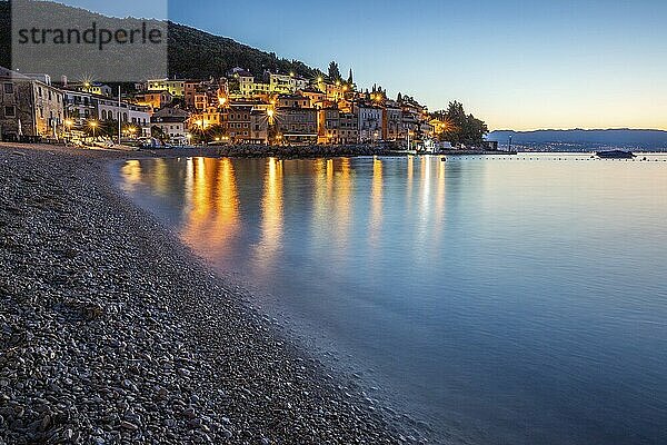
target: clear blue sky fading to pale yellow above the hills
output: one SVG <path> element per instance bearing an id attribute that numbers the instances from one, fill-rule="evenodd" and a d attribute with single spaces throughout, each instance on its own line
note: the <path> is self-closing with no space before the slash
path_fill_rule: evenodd
<path id="1" fill-rule="evenodd" d="M 115 16 L 165 0 L 67 0 Z M 170 20 L 326 71 L 362 88 L 459 100 L 490 129 L 667 130 L 665 0 L 169 0 Z"/>

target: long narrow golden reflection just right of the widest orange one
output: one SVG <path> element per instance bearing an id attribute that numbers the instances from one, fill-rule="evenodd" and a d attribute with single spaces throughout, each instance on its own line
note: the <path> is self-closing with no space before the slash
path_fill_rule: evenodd
<path id="1" fill-rule="evenodd" d="M 281 160 L 267 159 L 261 200 L 260 240 L 255 249 L 255 259 L 263 271 L 270 270 L 282 246 L 285 224 L 282 167 Z"/>

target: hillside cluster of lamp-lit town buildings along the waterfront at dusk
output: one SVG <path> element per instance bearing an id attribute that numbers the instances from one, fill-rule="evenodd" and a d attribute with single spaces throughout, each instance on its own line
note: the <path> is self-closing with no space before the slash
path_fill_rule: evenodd
<path id="1" fill-rule="evenodd" d="M 0 68 L 0 95 L 2 140 L 86 137 L 112 121 L 123 138 L 175 146 L 426 141 L 445 129 L 411 98 L 391 100 L 376 87 L 358 91 L 351 72 L 342 81 L 235 68 L 220 79 L 148 80 L 121 95 Z"/>

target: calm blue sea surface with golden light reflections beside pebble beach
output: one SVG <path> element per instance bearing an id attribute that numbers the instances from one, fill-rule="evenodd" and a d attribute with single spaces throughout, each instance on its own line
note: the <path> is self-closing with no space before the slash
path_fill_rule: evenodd
<path id="1" fill-rule="evenodd" d="M 149 159 L 118 180 L 438 442 L 667 444 L 666 160 Z"/>

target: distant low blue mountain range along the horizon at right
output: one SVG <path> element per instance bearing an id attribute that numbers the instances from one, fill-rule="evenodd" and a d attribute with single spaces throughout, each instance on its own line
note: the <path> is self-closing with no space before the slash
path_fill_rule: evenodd
<path id="1" fill-rule="evenodd" d="M 606 148 L 636 150 L 667 150 L 667 131 L 631 130 L 627 128 L 608 130 L 536 130 L 536 131 L 491 131 L 487 139 L 507 146 L 511 136 L 516 148 L 530 150 L 587 151 Z"/>

